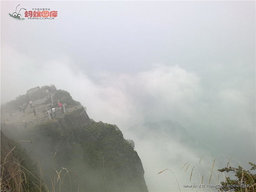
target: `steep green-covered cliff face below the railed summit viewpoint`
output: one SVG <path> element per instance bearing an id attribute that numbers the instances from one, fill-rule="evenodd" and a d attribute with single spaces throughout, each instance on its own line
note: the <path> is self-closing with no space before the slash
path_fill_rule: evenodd
<path id="1" fill-rule="evenodd" d="M 20 144 L 48 186 L 62 179 L 62 191 L 147 191 L 139 155 L 119 128 L 89 119 L 81 106 L 69 109 L 33 126 L 1 128 L 16 141 L 30 141 Z"/>

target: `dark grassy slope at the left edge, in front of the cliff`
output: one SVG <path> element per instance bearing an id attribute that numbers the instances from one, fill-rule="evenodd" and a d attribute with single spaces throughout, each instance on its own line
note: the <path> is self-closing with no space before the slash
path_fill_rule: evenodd
<path id="1" fill-rule="evenodd" d="M 1 124 L 1 127 L 5 125 Z M 10 128 L 7 126 L 7 128 Z M 1 131 L 1 189 L 11 191 L 35 191 L 38 186 L 37 165 L 18 143 L 7 138 Z"/>

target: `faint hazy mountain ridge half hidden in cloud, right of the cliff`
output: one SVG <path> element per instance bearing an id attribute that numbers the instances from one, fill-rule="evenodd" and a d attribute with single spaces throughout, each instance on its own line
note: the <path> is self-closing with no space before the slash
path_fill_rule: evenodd
<path id="1" fill-rule="evenodd" d="M 190 150 L 198 157 L 210 155 L 207 146 L 199 138 L 191 136 L 179 122 L 161 120 L 158 122 L 146 122 L 138 127 L 141 128 L 131 127 L 128 132 L 132 133 L 133 130 L 136 130 L 134 138 L 136 138 L 137 143 L 138 141 L 150 142 L 154 147 L 161 148 L 162 152 L 168 152 L 170 148 L 179 146 L 181 150 Z M 170 159 L 173 159 L 173 155 L 170 155 Z M 184 162 L 186 161 L 188 159 L 184 159 Z"/>

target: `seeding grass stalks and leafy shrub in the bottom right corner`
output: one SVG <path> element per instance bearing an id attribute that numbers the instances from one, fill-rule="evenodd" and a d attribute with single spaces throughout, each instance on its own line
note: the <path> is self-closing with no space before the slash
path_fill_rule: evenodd
<path id="1" fill-rule="evenodd" d="M 216 161 L 219 156 L 228 157 L 228 162 L 225 168 L 216 170 Z M 242 166 L 237 159 L 234 159 L 233 157 L 230 157 L 228 155 L 218 155 L 214 158 L 213 161 L 210 161 L 210 159 L 207 157 L 210 162 L 210 164 L 206 164 L 207 166 L 202 163 L 202 159 L 203 157 L 200 158 L 198 164 L 195 164 L 193 166 L 191 166 L 191 163 L 189 161 L 182 166 L 182 169 L 184 169 L 185 172 L 188 169 L 191 170 L 189 182 L 191 183 L 191 180 L 196 180 L 195 183 L 191 183 L 192 190 L 193 188 L 195 188 L 196 191 L 200 190 L 202 192 L 256 192 L 256 174 L 251 173 L 251 171 L 256 170 L 256 164 L 249 162 L 249 164 L 251 165 L 251 169 L 249 171 L 245 170 L 244 166 Z M 238 164 L 238 168 L 235 168 L 232 162 Z M 195 169 L 198 172 L 198 176 L 196 177 L 193 174 Z M 175 176 L 174 172 L 171 169 L 164 169 L 158 174 L 161 174 L 167 170 L 171 171 L 172 174 Z M 220 176 L 223 176 L 223 181 L 220 181 Z M 175 179 L 179 191 L 181 191 L 176 176 Z"/>

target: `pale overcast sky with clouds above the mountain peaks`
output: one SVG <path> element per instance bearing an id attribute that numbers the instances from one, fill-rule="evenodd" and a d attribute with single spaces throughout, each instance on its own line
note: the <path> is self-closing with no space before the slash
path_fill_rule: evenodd
<path id="1" fill-rule="evenodd" d="M 14 19 L 18 4 L 58 17 Z M 1 103 L 49 84 L 137 141 L 146 174 L 152 143 L 127 130 L 147 121 L 178 121 L 213 157 L 255 163 L 255 2 L 1 1 Z"/>

